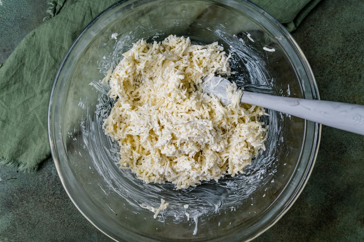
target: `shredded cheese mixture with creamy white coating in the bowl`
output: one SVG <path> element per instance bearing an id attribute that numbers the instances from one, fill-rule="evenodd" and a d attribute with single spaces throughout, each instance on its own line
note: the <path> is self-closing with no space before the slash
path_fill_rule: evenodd
<path id="1" fill-rule="evenodd" d="M 230 55 L 217 42 L 170 35 L 139 40 L 123 56 L 103 80 L 116 100 L 103 128 L 120 146 L 120 168 L 185 189 L 242 173 L 265 149 L 263 108 L 240 104 L 240 91 L 228 106 L 202 92 L 203 77 L 231 74 Z"/>

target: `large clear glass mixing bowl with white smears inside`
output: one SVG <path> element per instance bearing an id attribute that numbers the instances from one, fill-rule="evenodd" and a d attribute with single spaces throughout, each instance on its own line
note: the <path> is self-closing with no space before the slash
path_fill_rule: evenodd
<path id="1" fill-rule="evenodd" d="M 159 41 L 170 34 L 196 43 L 218 41 L 232 53 L 237 74 L 230 79 L 245 90 L 318 99 L 297 43 L 248 1 L 121 1 L 84 29 L 57 72 L 48 127 L 60 179 L 79 211 L 118 241 L 253 239 L 301 193 L 316 158 L 320 125 L 267 110 L 267 148 L 244 174 L 185 190 L 143 184 L 115 164 L 118 147 L 102 129 L 113 101 L 100 80 L 133 42 Z M 156 219 L 140 206 L 158 207 L 161 198 L 170 205 Z"/>

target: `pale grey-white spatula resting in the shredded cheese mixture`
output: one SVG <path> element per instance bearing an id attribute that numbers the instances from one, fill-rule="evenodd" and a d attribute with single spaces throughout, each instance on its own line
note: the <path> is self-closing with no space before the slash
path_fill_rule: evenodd
<path id="1" fill-rule="evenodd" d="M 229 80 L 221 77 L 203 78 L 203 92 L 214 94 L 223 105 L 231 103 L 226 88 Z M 240 102 L 284 112 L 330 127 L 364 135 L 364 106 L 322 100 L 289 98 L 242 91 Z"/>

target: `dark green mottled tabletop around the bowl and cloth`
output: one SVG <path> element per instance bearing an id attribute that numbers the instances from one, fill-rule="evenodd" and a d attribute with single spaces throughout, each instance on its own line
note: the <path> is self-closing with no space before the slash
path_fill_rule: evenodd
<path id="1" fill-rule="evenodd" d="M 2 1 L 0 63 L 41 24 L 47 9 L 45 0 Z M 323 0 L 293 33 L 321 99 L 364 105 L 363 13 L 363 1 Z M 363 147 L 364 136 L 323 126 L 304 191 L 255 241 L 364 241 Z M 0 241 L 111 240 L 78 212 L 47 160 L 31 174 L 0 167 Z"/>

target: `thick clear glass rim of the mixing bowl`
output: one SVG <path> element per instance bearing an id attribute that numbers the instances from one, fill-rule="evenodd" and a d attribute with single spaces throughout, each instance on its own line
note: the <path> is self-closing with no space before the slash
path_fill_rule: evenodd
<path id="1" fill-rule="evenodd" d="M 80 208 L 80 206 L 78 205 L 78 203 L 76 203 L 75 199 L 72 197 L 72 194 L 70 192 L 70 188 L 67 186 L 66 183 L 66 177 L 63 175 L 62 173 L 62 168 L 60 167 L 60 160 L 58 159 L 59 155 L 58 155 L 58 147 L 55 146 L 55 127 L 54 127 L 54 123 L 52 123 L 52 115 L 53 114 L 53 110 L 52 110 L 52 103 L 54 102 L 54 99 L 56 98 L 56 93 L 58 90 L 58 79 L 62 73 L 62 70 L 67 62 L 67 60 L 70 57 L 70 54 L 72 53 L 72 51 L 76 48 L 77 43 L 80 41 L 80 39 L 82 38 L 82 36 L 88 31 L 88 29 L 90 29 L 99 19 L 102 19 L 103 16 L 107 15 L 110 11 L 112 11 L 112 9 L 118 7 L 119 5 L 132 5 L 135 2 L 138 2 L 138 4 L 145 4 L 148 2 L 153 2 L 154 0 L 120 0 L 112 5 L 110 5 L 109 7 L 107 7 L 103 12 L 101 12 L 98 16 L 96 16 L 93 20 L 90 21 L 90 23 L 88 23 L 86 25 L 86 27 L 79 33 L 79 35 L 76 37 L 76 39 L 73 41 L 72 45 L 70 46 L 70 48 L 68 49 L 66 55 L 64 56 L 62 62 L 60 63 L 60 66 L 56 72 L 55 78 L 54 78 L 54 83 L 52 85 L 52 90 L 51 90 L 51 95 L 50 95 L 50 101 L 49 101 L 49 105 L 48 105 L 48 116 L 47 116 L 47 125 L 48 125 L 48 139 L 49 139 L 49 143 L 50 143 L 50 148 L 51 148 L 51 155 L 52 158 L 54 160 L 55 163 L 55 167 L 58 173 L 58 176 L 61 180 L 62 186 L 64 188 L 64 190 L 66 191 L 68 197 L 71 199 L 72 203 L 76 206 L 76 208 L 80 211 L 80 213 L 92 224 L 94 225 L 99 231 L 101 231 L 103 234 L 105 234 L 107 237 L 117 241 L 115 238 L 113 238 L 111 235 L 109 235 L 107 233 L 107 231 L 104 231 L 102 228 L 100 228 L 98 225 L 95 224 L 95 222 L 92 221 L 92 219 L 90 219 L 88 217 L 88 215 Z M 305 72 L 307 74 L 307 76 L 310 77 L 309 79 L 309 86 L 310 86 L 310 91 L 312 92 L 312 99 L 320 99 L 319 94 L 318 94 L 318 88 L 317 88 L 317 83 L 316 80 L 314 78 L 312 69 L 308 63 L 308 60 L 306 59 L 304 53 L 302 52 L 301 48 L 299 47 L 298 43 L 296 42 L 296 40 L 294 40 L 293 36 L 285 29 L 285 27 L 279 23 L 273 16 L 271 16 L 269 13 L 267 13 L 264 9 L 258 7 L 257 5 L 251 3 L 248 0 L 222 0 L 222 1 L 218 1 L 219 4 L 223 4 L 226 5 L 226 1 L 232 2 L 232 4 L 236 4 L 236 5 L 248 5 L 248 7 L 250 7 L 251 9 L 253 9 L 254 11 L 257 11 L 258 13 L 260 13 L 260 15 L 262 17 L 264 17 L 265 20 L 269 21 L 269 23 L 271 25 L 275 25 L 276 27 L 278 27 L 280 29 L 280 31 L 282 31 L 286 37 L 286 39 L 288 41 L 290 41 L 290 44 L 292 45 L 292 48 L 294 48 L 294 51 L 297 54 L 297 57 L 300 59 L 300 62 L 302 63 L 302 66 L 305 68 Z M 216 0 L 211 0 L 211 3 L 213 2 L 217 2 Z M 302 84 L 302 83 L 301 83 Z M 314 163 L 316 162 L 316 158 L 317 158 L 317 154 L 318 154 L 318 149 L 320 146 L 320 138 L 321 138 L 321 124 L 319 123 L 314 123 L 308 120 L 305 120 L 305 134 L 304 137 L 306 137 L 306 131 L 307 131 L 307 126 L 314 126 L 313 128 L 313 144 L 312 144 L 312 150 L 311 150 L 311 155 L 309 158 L 309 162 L 307 163 L 307 167 L 304 175 L 301 176 L 300 179 L 300 183 L 295 187 L 294 189 L 294 193 L 290 194 L 290 199 L 289 202 L 286 203 L 286 207 L 284 207 L 277 215 L 276 217 L 274 217 L 272 219 L 272 217 L 269 217 L 269 222 L 265 223 L 265 227 L 260 227 L 260 230 L 255 233 L 252 234 L 250 238 L 248 238 L 248 241 L 252 241 L 253 239 L 257 238 L 258 236 L 260 236 L 261 234 L 263 234 L 265 231 L 267 231 L 270 227 L 272 227 L 274 224 L 276 224 L 283 216 L 284 214 L 293 206 L 294 202 L 296 202 L 297 198 L 300 196 L 300 194 L 302 193 L 304 187 L 306 186 L 309 177 L 312 173 L 313 167 L 314 167 Z M 305 142 L 303 142 L 305 143 Z M 301 151 L 302 153 L 302 151 Z M 285 191 L 285 188 L 282 190 L 282 192 Z M 281 193 L 282 193 L 281 192 Z"/>

